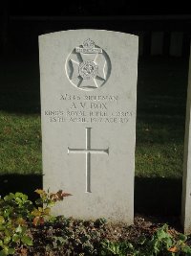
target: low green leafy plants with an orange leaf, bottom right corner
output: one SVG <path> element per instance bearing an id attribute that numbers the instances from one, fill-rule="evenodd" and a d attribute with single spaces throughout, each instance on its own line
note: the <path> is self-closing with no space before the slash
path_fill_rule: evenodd
<path id="1" fill-rule="evenodd" d="M 160 227 L 151 239 L 142 237 L 137 243 L 111 242 L 102 243 L 101 255 L 105 256 L 189 256 L 191 247 L 185 244 L 187 237 L 179 234 L 173 237 L 168 225 Z"/>

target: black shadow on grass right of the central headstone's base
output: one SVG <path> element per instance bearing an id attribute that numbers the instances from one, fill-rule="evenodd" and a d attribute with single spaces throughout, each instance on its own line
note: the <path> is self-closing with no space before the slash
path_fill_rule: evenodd
<path id="1" fill-rule="evenodd" d="M 136 177 L 135 212 L 150 216 L 179 216 L 181 187 L 178 178 Z"/>

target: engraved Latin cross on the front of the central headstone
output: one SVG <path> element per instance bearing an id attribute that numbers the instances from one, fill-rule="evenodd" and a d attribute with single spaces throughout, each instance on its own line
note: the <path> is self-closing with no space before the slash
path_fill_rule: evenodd
<path id="1" fill-rule="evenodd" d="M 91 153 L 107 153 L 106 150 L 91 149 L 91 128 L 86 128 L 86 148 L 85 149 L 70 149 L 68 153 L 85 153 L 86 154 L 86 192 L 91 193 Z"/>

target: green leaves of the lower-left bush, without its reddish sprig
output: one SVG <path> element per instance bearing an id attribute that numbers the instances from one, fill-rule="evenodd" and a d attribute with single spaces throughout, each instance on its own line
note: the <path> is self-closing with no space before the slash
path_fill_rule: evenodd
<path id="1" fill-rule="evenodd" d="M 19 244 L 32 245 L 27 228 L 32 201 L 22 193 L 15 193 L 0 199 L 0 255 L 14 254 Z"/>

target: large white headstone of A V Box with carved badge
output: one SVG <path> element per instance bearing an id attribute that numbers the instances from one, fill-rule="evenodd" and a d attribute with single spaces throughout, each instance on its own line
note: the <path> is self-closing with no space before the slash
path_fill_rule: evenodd
<path id="1" fill-rule="evenodd" d="M 138 36 L 39 36 L 44 189 L 54 214 L 133 222 Z"/>

